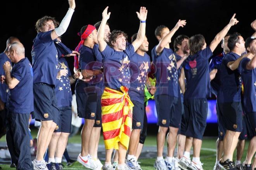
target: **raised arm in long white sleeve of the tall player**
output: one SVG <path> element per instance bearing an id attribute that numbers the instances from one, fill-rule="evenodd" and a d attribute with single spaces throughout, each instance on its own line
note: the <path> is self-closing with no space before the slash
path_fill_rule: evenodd
<path id="1" fill-rule="evenodd" d="M 67 27 L 69 26 L 71 17 L 74 13 L 74 8 L 76 7 L 75 0 L 68 0 L 68 3 L 69 8 L 67 10 L 65 17 L 62 19 L 61 24 L 59 25 L 59 27 L 55 28 L 54 31 L 51 32 L 52 40 L 56 39 L 57 37 L 60 37 L 67 31 Z"/>

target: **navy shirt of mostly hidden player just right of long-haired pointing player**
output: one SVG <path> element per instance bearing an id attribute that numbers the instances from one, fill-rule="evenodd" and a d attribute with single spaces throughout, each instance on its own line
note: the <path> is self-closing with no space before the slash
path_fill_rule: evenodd
<path id="1" fill-rule="evenodd" d="M 221 62 L 223 57 L 225 56 L 225 53 L 222 52 L 221 54 L 214 56 L 210 63 L 209 63 L 209 71 L 212 71 L 213 69 L 217 69 L 217 73 L 214 77 L 213 80 L 211 80 L 211 92 L 217 96 L 218 95 L 218 91 L 220 89 L 220 68 L 221 68 Z"/>

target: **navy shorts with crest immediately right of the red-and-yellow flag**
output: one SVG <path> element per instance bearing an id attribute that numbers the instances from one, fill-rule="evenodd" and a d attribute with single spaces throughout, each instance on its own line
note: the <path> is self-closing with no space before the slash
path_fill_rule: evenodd
<path id="1" fill-rule="evenodd" d="M 145 112 L 144 104 L 136 100 L 131 100 L 131 102 L 134 105 L 132 110 L 132 129 L 143 129 Z"/>

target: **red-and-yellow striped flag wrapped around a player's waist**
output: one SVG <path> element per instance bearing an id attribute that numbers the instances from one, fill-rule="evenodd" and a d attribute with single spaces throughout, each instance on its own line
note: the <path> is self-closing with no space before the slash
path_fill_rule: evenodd
<path id="1" fill-rule="evenodd" d="M 122 86 L 122 92 L 106 87 L 101 97 L 102 130 L 105 147 L 118 149 L 121 143 L 127 150 L 131 136 L 133 103 L 128 88 Z"/>

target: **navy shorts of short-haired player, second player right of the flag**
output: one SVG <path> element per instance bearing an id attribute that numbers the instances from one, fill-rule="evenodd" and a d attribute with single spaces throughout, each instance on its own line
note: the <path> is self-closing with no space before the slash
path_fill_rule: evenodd
<path id="1" fill-rule="evenodd" d="M 179 128 L 181 113 L 175 113 L 174 105 L 178 98 L 170 95 L 155 96 L 157 125 L 162 127 Z"/>

